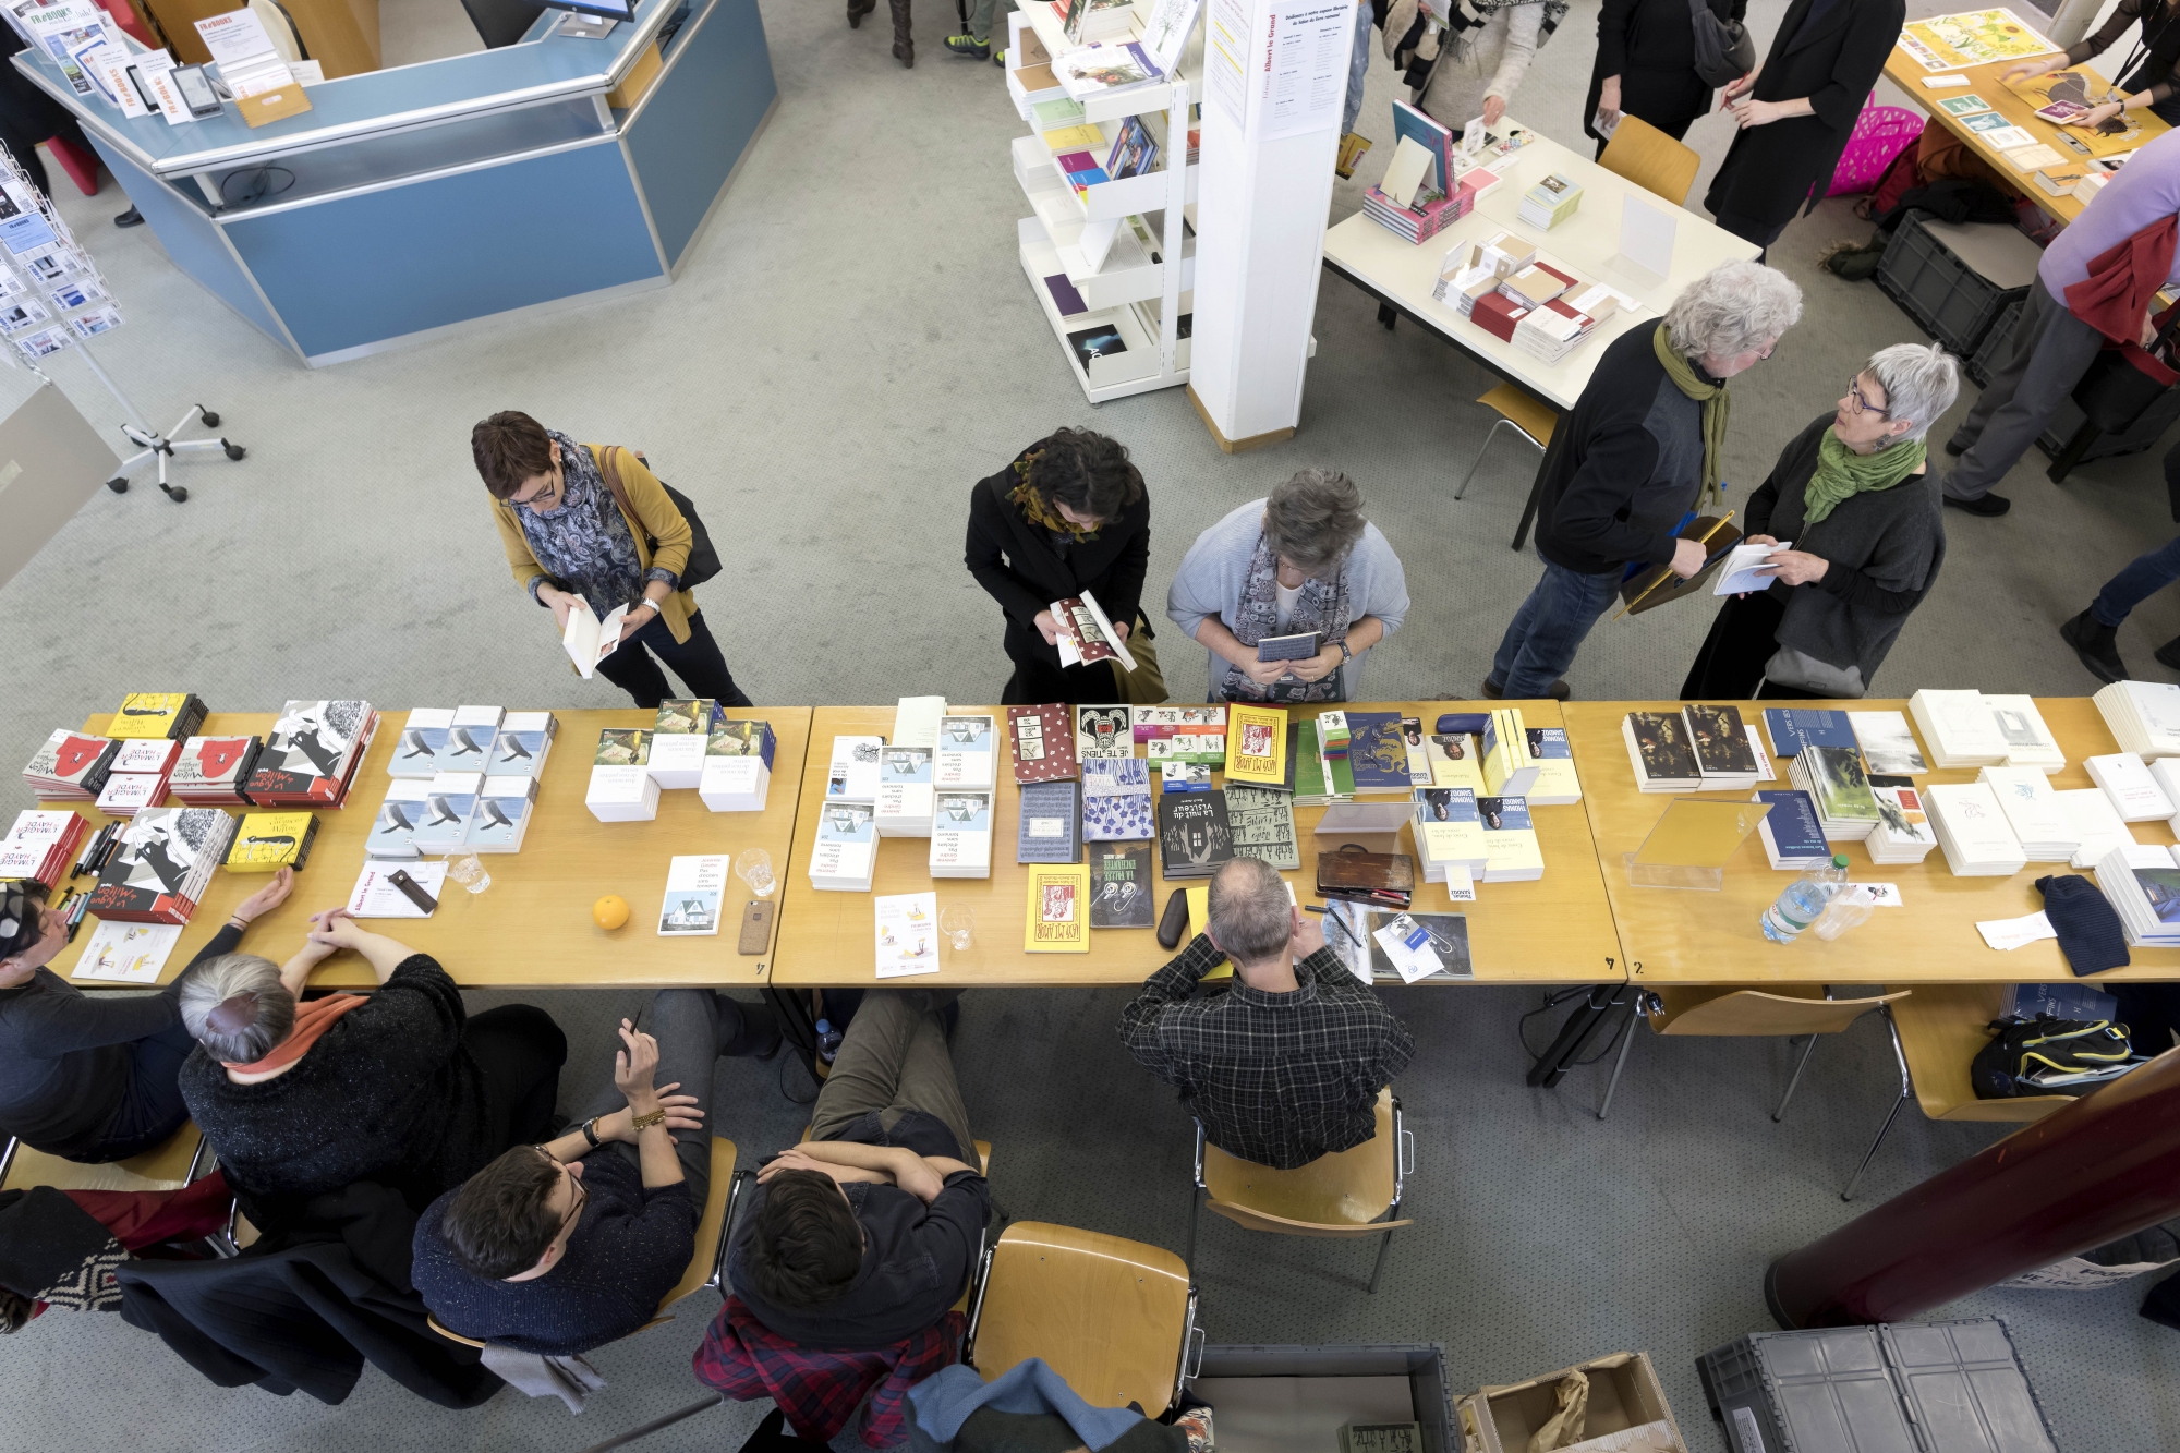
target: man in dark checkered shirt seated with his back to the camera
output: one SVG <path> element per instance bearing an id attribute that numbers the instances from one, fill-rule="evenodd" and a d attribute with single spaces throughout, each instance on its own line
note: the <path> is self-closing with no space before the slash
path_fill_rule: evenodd
<path id="1" fill-rule="evenodd" d="M 1234 960 L 1234 986 L 1195 997 L 1223 960 Z M 1256 857 L 1212 875 L 1203 932 L 1121 1010 L 1121 1043 L 1182 1091 L 1203 1139 L 1273 1169 L 1378 1134 L 1378 1091 L 1415 1054 L 1408 1025 Z"/>

